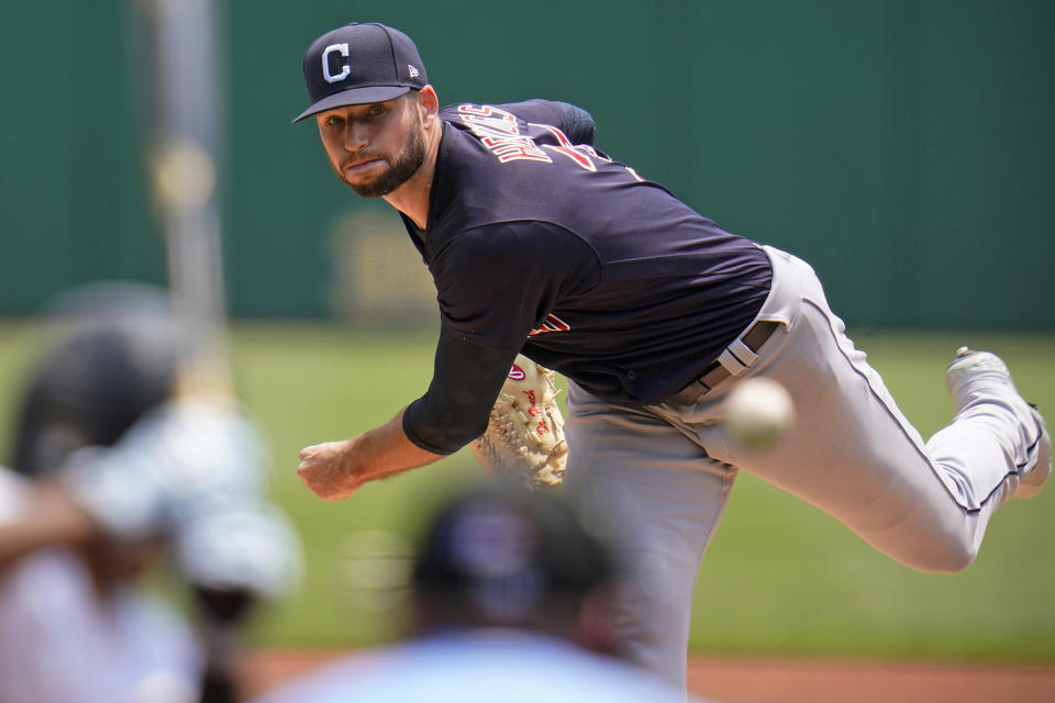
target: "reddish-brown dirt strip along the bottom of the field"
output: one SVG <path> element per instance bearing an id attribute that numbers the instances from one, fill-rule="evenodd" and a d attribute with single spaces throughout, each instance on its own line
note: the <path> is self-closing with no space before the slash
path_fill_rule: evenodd
<path id="1" fill-rule="evenodd" d="M 247 652 L 243 692 L 262 693 L 341 654 Z M 689 690 L 714 703 L 1051 703 L 1055 667 L 691 657 Z"/>

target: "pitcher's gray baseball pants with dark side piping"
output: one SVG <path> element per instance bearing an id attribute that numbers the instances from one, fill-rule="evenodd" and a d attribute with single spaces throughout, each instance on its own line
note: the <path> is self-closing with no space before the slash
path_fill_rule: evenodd
<path id="1" fill-rule="evenodd" d="M 636 594 L 621 614 L 631 657 L 682 685 L 700 559 L 738 469 L 826 511 L 906 566 L 951 572 L 974 560 L 1035 442 L 1024 403 L 999 402 L 1010 393 L 999 386 L 998 402 L 960 412 L 924 443 L 844 334 L 812 268 L 764 248 L 774 283 L 756 320 L 782 325 L 754 364 L 731 369 L 738 375 L 696 402 L 647 408 L 613 405 L 569 383 L 566 495 L 631 570 Z M 776 379 L 796 404 L 793 431 L 770 450 L 742 449 L 723 431 L 729 391 L 753 376 Z"/>

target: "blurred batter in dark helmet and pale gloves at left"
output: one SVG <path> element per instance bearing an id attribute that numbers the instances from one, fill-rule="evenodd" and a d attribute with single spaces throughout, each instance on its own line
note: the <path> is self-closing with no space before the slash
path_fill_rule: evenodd
<path id="1" fill-rule="evenodd" d="M 0 700 L 229 703 L 237 628 L 297 579 L 266 453 L 231 401 L 177 397 L 164 292 L 78 291 L 27 377 L 0 469 Z M 170 557 L 200 633 L 137 585 Z"/>

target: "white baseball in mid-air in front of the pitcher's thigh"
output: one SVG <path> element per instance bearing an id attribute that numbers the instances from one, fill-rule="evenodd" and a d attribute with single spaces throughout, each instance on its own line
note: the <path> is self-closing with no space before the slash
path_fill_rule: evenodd
<path id="1" fill-rule="evenodd" d="M 732 439 L 749 449 L 767 449 L 795 424 L 795 403 L 778 381 L 749 378 L 730 393 L 725 429 Z"/>

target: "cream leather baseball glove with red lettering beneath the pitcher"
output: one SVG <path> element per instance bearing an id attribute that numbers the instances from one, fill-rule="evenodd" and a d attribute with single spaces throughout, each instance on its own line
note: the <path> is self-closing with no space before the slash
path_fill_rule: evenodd
<path id="1" fill-rule="evenodd" d="M 560 484 L 568 443 L 554 379 L 549 369 L 517 355 L 491 409 L 487 432 L 469 444 L 489 473 L 517 479 L 531 489 Z"/>

